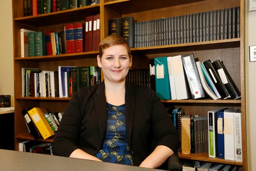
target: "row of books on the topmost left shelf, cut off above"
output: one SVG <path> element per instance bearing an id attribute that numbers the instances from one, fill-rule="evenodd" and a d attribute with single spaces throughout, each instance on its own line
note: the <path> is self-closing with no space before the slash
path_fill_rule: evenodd
<path id="1" fill-rule="evenodd" d="M 99 0 L 23 0 L 23 9 L 24 16 L 35 16 L 95 4 Z"/>

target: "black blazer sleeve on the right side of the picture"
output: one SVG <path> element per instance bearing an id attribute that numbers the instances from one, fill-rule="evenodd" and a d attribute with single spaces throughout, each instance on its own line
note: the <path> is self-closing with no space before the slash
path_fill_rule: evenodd
<path id="1" fill-rule="evenodd" d="M 152 130 L 157 145 L 165 145 L 177 152 L 180 147 L 179 136 L 172 119 L 155 92 L 151 91 L 152 99 Z"/>

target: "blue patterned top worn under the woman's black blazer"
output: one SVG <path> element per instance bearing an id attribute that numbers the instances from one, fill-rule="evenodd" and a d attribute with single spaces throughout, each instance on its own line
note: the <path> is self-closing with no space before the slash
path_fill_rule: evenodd
<path id="1" fill-rule="evenodd" d="M 125 105 L 107 103 L 108 125 L 102 149 L 95 155 L 103 162 L 133 165 L 127 142 Z"/>

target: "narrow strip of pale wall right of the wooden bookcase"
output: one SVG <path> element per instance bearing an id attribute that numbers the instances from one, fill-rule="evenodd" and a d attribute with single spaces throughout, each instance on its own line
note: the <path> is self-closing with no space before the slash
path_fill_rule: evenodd
<path id="1" fill-rule="evenodd" d="M 248 170 L 256 170 L 256 61 L 249 62 L 249 46 L 256 45 L 256 11 L 245 10 L 245 81 Z"/>

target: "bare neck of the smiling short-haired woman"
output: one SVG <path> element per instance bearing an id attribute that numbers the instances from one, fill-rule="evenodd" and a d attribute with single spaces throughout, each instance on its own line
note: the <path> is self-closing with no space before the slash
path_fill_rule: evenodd
<path id="1" fill-rule="evenodd" d="M 120 83 L 104 82 L 106 101 L 112 105 L 125 103 L 125 81 Z"/>

